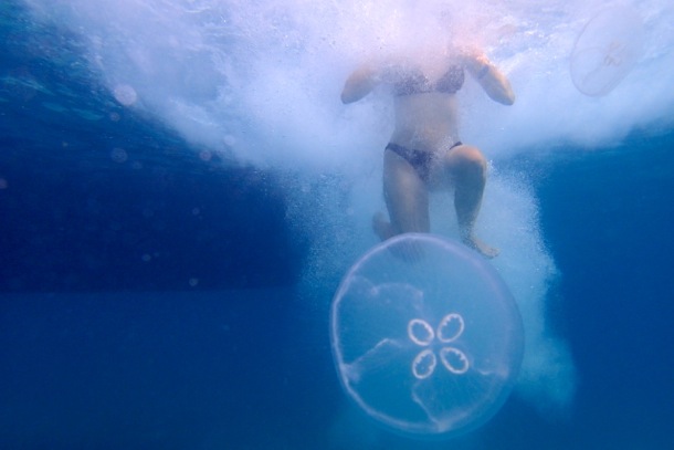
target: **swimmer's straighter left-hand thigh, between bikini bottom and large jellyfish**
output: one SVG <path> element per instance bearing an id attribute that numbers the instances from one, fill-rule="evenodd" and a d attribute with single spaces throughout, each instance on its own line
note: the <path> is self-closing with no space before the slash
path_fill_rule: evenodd
<path id="1" fill-rule="evenodd" d="M 397 233 L 430 231 L 426 185 L 410 163 L 391 150 L 383 156 L 383 195 Z"/>

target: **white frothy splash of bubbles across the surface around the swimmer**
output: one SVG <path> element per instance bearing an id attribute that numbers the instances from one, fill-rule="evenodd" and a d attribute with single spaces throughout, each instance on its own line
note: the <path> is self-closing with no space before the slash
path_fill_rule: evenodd
<path id="1" fill-rule="evenodd" d="M 192 142 L 257 165 L 334 167 L 381 143 L 385 106 L 346 111 L 338 102 L 348 72 L 449 42 L 485 48 L 517 92 L 513 111 L 483 102 L 474 84 L 462 93 L 463 138 L 493 157 L 610 144 L 662 121 L 674 104 L 666 0 L 25 1 L 84 34 L 110 91 L 128 86 L 136 107 Z M 647 30 L 643 54 L 613 95 L 586 98 L 569 71 L 573 45 L 598 12 L 625 3 Z"/>

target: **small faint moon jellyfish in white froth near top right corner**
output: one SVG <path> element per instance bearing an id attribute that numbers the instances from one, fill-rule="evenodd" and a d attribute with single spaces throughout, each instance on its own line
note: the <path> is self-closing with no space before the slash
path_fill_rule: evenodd
<path id="1" fill-rule="evenodd" d="M 642 53 L 643 24 L 639 13 L 614 7 L 590 20 L 576 40 L 571 54 L 571 80 L 586 95 L 613 91 Z"/>

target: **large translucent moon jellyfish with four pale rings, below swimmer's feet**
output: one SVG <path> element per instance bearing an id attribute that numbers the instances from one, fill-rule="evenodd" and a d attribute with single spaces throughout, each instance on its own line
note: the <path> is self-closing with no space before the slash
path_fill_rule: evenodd
<path id="1" fill-rule="evenodd" d="M 519 311 L 493 266 L 431 234 L 375 247 L 348 271 L 330 313 L 341 385 L 393 431 L 445 438 L 504 404 L 524 352 Z"/>

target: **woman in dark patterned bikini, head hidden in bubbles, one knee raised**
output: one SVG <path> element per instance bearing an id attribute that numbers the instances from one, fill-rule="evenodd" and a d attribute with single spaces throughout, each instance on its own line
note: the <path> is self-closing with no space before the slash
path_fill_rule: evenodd
<path id="1" fill-rule="evenodd" d="M 390 219 L 382 212 L 372 219 L 382 241 L 400 233 L 430 232 L 429 191 L 453 187 L 461 240 L 486 258 L 498 254 L 474 233 L 487 164 L 478 148 L 459 138 L 455 94 L 465 72 L 493 101 L 515 102 L 508 80 L 476 50 L 447 49 L 440 55 L 369 63 L 346 81 L 345 104 L 359 101 L 380 84 L 390 86 L 394 96 L 394 129 L 383 153 L 383 195 Z"/>

